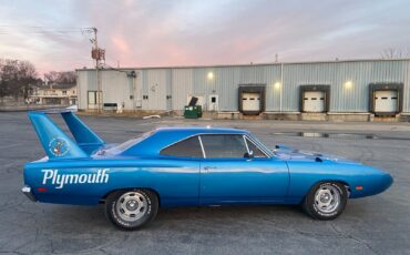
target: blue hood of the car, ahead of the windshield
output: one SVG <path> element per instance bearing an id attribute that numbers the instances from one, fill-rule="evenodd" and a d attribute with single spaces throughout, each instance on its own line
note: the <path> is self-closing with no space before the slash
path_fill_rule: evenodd
<path id="1" fill-rule="evenodd" d="M 319 152 L 310 152 L 304 150 L 297 150 L 285 145 L 276 145 L 273 149 L 275 156 L 284 161 L 312 161 L 312 162 L 324 162 L 331 161 L 337 163 L 347 163 L 347 164 L 360 164 L 358 162 Z"/>

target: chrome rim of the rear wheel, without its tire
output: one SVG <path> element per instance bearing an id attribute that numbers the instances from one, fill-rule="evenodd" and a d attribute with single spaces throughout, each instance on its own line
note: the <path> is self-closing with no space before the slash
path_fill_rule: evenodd
<path id="1" fill-rule="evenodd" d="M 120 196 L 115 205 L 116 214 L 127 222 L 135 222 L 145 215 L 148 208 L 146 197 L 140 192 L 126 192 Z"/>

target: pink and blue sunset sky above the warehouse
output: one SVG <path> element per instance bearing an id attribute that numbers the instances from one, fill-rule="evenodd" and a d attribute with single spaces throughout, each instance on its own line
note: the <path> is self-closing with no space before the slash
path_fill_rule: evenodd
<path id="1" fill-rule="evenodd" d="M 0 58 L 41 74 L 91 68 L 96 27 L 106 63 L 163 67 L 375 59 L 409 53 L 407 0 L 0 0 Z"/>

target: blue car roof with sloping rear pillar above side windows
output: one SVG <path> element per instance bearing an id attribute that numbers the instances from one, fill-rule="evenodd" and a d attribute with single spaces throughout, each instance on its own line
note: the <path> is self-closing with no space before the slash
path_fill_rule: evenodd
<path id="1" fill-rule="evenodd" d="M 123 151 L 122 155 L 158 155 L 171 144 L 198 134 L 247 134 L 246 130 L 212 126 L 165 126 L 155 129 L 151 135 Z"/>

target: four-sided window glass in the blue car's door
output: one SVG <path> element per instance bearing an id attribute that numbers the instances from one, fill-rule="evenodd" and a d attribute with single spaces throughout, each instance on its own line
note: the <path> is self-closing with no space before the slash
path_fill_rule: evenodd
<path id="1" fill-rule="evenodd" d="M 201 135 L 205 155 L 212 157 L 244 157 L 247 153 L 242 134 L 206 134 Z"/>

